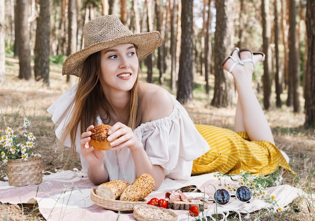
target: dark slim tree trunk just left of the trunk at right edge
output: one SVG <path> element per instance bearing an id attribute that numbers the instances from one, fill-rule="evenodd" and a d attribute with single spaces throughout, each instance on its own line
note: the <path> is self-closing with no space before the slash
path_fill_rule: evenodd
<path id="1" fill-rule="evenodd" d="M 298 41 L 296 30 L 295 0 L 289 1 L 289 92 L 292 93 L 293 111 L 300 111 L 299 86 L 300 86 L 300 66 L 298 56 Z M 291 87 L 291 90 L 290 90 Z"/>

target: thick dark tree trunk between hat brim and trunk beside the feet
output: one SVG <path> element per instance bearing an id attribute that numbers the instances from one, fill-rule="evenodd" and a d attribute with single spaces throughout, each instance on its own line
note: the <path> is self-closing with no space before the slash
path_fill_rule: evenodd
<path id="1" fill-rule="evenodd" d="M 193 0 L 182 1 L 182 38 L 179 60 L 177 100 L 193 102 Z"/>

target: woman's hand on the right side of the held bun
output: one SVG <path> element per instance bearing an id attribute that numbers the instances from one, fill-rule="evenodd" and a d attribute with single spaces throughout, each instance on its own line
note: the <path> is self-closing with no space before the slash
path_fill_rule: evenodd
<path id="1" fill-rule="evenodd" d="M 114 150 L 122 149 L 124 147 L 127 147 L 130 150 L 143 148 L 141 141 L 134 135 L 131 128 L 123 123 L 117 122 L 114 124 L 108 131 L 108 135 L 110 136 L 107 137 L 107 140 L 112 141 L 111 146 Z"/>

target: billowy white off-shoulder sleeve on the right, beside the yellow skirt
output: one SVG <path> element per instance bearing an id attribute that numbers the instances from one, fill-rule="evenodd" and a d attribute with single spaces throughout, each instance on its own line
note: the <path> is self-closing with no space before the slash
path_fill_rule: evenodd
<path id="1" fill-rule="evenodd" d="M 141 124 L 134 131 L 152 164 L 172 179 L 189 179 L 193 160 L 209 150 L 185 108 L 172 96 L 174 109 L 165 118 Z"/>

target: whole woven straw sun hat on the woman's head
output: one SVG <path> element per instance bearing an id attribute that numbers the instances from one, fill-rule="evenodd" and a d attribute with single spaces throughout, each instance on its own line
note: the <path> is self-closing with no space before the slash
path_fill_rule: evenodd
<path id="1" fill-rule="evenodd" d="M 62 66 L 62 75 L 81 75 L 84 61 L 93 53 L 115 45 L 131 43 L 136 47 L 138 60 L 151 54 L 162 44 L 157 31 L 133 34 L 116 15 L 101 16 L 85 24 L 84 49 L 69 55 Z"/>

